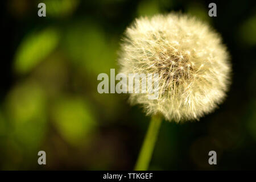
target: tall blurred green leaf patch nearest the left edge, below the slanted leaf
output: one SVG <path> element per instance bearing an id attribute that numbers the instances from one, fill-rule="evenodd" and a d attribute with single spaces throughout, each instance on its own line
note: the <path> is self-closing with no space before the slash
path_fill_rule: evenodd
<path id="1" fill-rule="evenodd" d="M 40 146 L 46 131 L 46 96 L 35 82 L 26 82 L 11 90 L 6 109 L 13 125 L 12 136 L 26 152 Z"/>

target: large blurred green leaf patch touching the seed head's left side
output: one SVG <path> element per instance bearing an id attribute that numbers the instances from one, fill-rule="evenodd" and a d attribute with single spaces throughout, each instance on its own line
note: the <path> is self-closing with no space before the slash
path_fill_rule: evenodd
<path id="1" fill-rule="evenodd" d="M 117 39 L 107 39 L 105 32 L 95 23 L 78 22 L 68 28 L 65 49 L 72 62 L 88 75 L 115 68 L 117 48 Z"/>

